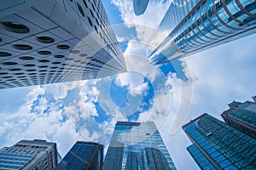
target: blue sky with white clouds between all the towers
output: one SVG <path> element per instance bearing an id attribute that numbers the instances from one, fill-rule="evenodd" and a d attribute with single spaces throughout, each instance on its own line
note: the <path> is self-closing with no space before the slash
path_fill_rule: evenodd
<path id="1" fill-rule="evenodd" d="M 204 112 L 221 119 L 231 101 L 251 100 L 256 94 L 256 35 L 158 67 L 145 58 L 151 44 L 148 35 L 170 2 L 150 1 L 141 16 L 133 13 L 131 0 L 103 3 L 122 42 L 128 72 L 0 90 L 0 148 L 20 139 L 47 139 L 56 142 L 64 156 L 79 139 L 108 144 L 116 121 L 154 120 L 177 169 L 198 169 L 186 151 L 189 139 L 179 128 L 171 131 L 183 109 L 179 106 L 189 107 L 183 115 L 183 122 L 189 122 Z M 186 94 L 188 89 L 192 94 Z"/>

